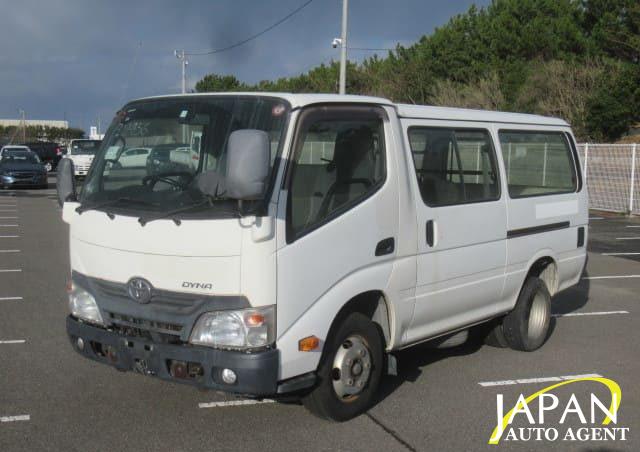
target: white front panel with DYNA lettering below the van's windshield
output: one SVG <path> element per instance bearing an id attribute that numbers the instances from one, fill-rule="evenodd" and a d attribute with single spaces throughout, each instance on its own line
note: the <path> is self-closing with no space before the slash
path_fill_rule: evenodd
<path id="1" fill-rule="evenodd" d="M 147 279 L 169 291 L 237 294 L 242 226 L 238 219 L 157 220 L 100 211 L 74 215 L 71 266 L 84 275 L 125 283 Z"/>

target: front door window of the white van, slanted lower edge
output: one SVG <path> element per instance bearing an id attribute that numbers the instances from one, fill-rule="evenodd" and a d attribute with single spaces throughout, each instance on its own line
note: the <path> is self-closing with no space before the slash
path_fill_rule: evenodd
<path id="1" fill-rule="evenodd" d="M 289 240 L 367 198 L 386 175 L 380 115 L 370 109 L 348 115 L 321 111 L 301 121 L 290 181 Z"/>

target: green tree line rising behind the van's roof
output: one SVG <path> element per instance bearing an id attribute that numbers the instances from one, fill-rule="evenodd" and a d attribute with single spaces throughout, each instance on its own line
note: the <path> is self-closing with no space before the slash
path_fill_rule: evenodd
<path id="1" fill-rule="evenodd" d="M 196 91 L 332 93 L 338 73 L 332 61 L 256 84 L 209 74 Z M 616 140 L 640 122 L 640 1 L 493 0 L 347 74 L 352 94 L 558 116 L 580 140 Z"/>

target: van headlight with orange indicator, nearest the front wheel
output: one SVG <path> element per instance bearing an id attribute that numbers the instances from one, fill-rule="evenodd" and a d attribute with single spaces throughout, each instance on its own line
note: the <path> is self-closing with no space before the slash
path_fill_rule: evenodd
<path id="1" fill-rule="evenodd" d="M 275 306 L 202 314 L 189 342 L 209 347 L 251 349 L 275 340 Z"/>

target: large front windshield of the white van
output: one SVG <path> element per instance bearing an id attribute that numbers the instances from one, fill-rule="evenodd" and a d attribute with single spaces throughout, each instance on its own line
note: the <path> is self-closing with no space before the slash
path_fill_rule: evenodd
<path id="1" fill-rule="evenodd" d="M 273 173 L 288 110 L 281 99 L 258 96 L 131 103 L 116 115 L 107 132 L 82 189 L 82 204 L 90 208 L 107 203 L 109 212 L 134 215 L 189 206 L 195 211 L 215 210 L 225 201 L 224 191 L 206 198 L 198 189 L 198 176 L 206 172 L 210 178 L 216 173 L 224 180 L 229 135 L 240 129 L 269 134 Z M 209 204 L 203 204 L 207 199 Z"/>

